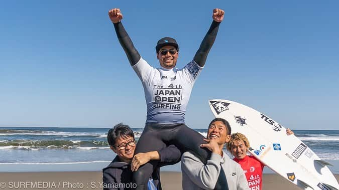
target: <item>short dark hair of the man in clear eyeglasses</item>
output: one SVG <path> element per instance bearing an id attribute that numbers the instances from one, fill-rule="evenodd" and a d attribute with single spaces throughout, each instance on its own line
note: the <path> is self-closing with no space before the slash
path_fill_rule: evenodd
<path id="1" fill-rule="evenodd" d="M 113 128 L 108 130 L 107 133 L 107 141 L 108 144 L 114 146 L 116 144 L 116 140 L 119 137 L 127 138 L 132 136 L 134 138 L 133 130 L 130 126 L 124 125 L 123 123 L 116 124 Z"/>

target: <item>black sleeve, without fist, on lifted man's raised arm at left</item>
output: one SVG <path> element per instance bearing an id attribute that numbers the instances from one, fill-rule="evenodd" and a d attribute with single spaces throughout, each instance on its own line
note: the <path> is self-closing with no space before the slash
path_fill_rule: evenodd
<path id="1" fill-rule="evenodd" d="M 121 22 L 114 24 L 118 40 L 123 47 L 130 64 L 133 66 L 140 60 L 140 54 L 134 47 L 131 38 L 128 36 L 123 24 Z"/>

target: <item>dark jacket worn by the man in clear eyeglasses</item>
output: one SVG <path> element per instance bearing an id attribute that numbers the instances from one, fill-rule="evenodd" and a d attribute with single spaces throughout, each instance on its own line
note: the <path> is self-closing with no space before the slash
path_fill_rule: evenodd
<path id="1" fill-rule="evenodd" d="M 174 145 L 165 147 L 158 152 L 160 154 L 160 161 L 158 162 L 158 167 L 152 173 L 152 178 L 157 189 L 161 190 L 159 168 L 164 165 L 172 165 L 179 162 L 181 159 L 181 152 Z M 107 167 L 102 169 L 103 189 L 133 189 L 132 176 L 131 165 L 122 162 L 120 158 L 116 156 Z"/>

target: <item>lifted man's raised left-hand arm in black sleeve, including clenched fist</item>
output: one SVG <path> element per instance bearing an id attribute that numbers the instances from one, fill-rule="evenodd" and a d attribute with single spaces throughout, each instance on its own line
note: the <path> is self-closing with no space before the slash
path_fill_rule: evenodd
<path id="1" fill-rule="evenodd" d="M 111 22 L 114 24 L 114 29 L 116 30 L 118 40 L 123 47 L 130 64 L 132 66 L 137 64 L 140 60 L 140 54 L 134 47 L 131 38 L 128 36 L 123 24 L 121 23 L 123 14 L 120 12 L 120 9 L 109 10 L 108 16 Z"/>

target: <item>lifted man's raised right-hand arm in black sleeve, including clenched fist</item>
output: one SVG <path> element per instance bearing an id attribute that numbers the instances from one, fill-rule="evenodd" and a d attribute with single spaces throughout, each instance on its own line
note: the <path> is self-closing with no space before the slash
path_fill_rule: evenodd
<path id="1" fill-rule="evenodd" d="M 213 10 L 213 22 L 207 31 L 206 36 L 203 38 L 198 51 L 194 56 L 194 61 L 200 67 L 205 65 L 207 55 L 209 50 L 212 48 L 214 40 L 216 38 L 216 34 L 218 33 L 219 25 L 223 20 L 224 11 L 221 9 L 214 9 Z"/>

